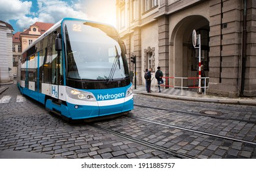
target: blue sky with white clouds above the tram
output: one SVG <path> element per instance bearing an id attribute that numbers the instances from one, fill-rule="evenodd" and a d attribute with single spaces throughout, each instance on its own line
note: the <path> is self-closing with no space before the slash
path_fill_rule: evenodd
<path id="1" fill-rule="evenodd" d="M 64 17 L 115 26 L 115 0 L 0 0 L 0 20 L 11 24 L 13 33 L 35 22 L 57 23 Z"/>

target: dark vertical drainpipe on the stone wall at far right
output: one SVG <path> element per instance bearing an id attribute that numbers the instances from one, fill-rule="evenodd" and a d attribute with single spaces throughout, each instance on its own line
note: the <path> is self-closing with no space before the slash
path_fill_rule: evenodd
<path id="1" fill-rule="evenodd" d="M 244 0 L 244 10 L 243 10 L 243 40 L 242 40 L 242 60 L 241 60 L 241 88 L 240 96 L 244 96 L 244 80 L 246 75 L 246 16 L 247 16 L 247 0 Z"/>

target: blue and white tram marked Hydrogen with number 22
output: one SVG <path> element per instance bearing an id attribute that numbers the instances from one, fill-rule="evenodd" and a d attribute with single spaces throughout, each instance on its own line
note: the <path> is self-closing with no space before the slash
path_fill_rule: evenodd
<path id="1" fill-rule="evenodd" d="M 125 47 L 114 27 L 64 18 L 25 49 L 20 92 L 76 120 L 133 109 Z"/>

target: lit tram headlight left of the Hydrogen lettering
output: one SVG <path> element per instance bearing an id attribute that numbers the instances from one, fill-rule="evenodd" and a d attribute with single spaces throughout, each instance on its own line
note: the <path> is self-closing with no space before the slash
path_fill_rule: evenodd
<path id="1" fill-rule="evenodd" d="M 96 101 L 95 96 L 90 92 L 66 87 L 67 95 L 75 100 Z"/>

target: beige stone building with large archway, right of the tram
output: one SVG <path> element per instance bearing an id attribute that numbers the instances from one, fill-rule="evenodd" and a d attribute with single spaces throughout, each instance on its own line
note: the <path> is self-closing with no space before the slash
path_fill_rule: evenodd
<path id="1" fill-rule="evenodd" d="M 145 84 L 146 68 L 154 74 L 158 66 L 167 77 L 197 77 L 199 50 L 192 45 L 196 30 L 201 64 L 210 78 L 207 92 L 256 96 L 256 1 L 117 0 L 116 8 L 127 58 L 137 57 L 137 84 Z M 130 62 L 130 70 L 133 67 Z"/>

